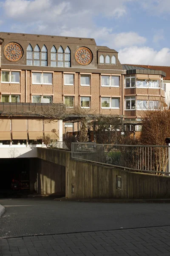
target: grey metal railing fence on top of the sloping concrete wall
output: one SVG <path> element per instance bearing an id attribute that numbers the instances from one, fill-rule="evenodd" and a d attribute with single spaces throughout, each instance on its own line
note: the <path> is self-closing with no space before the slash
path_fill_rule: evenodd
<path id="1" fill-rule="evenodd" d="M 71 156 L 136 172 L 170 176 L 169 146 L 72 143 Z"/>

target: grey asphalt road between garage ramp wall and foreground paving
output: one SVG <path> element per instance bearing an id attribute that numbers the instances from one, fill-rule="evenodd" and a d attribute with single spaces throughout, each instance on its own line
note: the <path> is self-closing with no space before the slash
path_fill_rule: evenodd
<path id="1" fill-rule="evenodd" d="M 0 199 L 0 238 L 170 225 L 170 204 Z"/>

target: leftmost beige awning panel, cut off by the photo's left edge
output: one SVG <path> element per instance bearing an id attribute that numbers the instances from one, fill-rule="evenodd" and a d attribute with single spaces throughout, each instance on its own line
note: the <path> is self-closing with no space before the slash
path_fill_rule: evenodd
<path id="1" fill-rule="evenodd" d="M 11 140 L 10 119 L 0 119 L 0 140 Z"/>

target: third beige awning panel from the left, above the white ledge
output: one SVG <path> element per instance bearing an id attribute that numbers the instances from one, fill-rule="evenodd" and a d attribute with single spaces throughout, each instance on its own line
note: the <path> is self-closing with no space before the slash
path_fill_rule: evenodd
<path id="1" fill-rule="evenodd" d="M 29 140 L 38 140 L 43 137 L 42 120 L 28 119 L 28 135 Z"/>

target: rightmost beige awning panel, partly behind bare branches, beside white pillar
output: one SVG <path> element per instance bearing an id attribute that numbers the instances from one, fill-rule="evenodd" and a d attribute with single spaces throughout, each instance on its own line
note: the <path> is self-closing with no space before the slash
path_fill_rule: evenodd
<path id="1" fill-rule="evenodd" d="M 58 136 L 58 122 L 56 120 L 52 122 L 44 121 L 44 135 L 49 135 L 51 140 L 59 139 Z"/>

